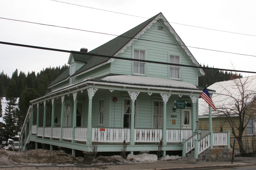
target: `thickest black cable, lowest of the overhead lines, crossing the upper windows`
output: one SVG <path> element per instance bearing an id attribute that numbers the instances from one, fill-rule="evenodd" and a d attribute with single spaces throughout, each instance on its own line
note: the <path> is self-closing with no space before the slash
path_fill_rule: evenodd
<path id="1" fill-rule="evenodd" d="M 39 47 L 39 46 L 30 46 L 30 45 L 25 45 L 25 44 L 16 44 L 16 43 L 9 43 L 9 42 L 2 42 L 2 41 L 0 41 L 0 44 L 19 46 L 19 47 L 28 47 L 28 48 L 41 49 L 41 50 L 50 50 L 50 51 L 60 51 L 60 52 L 67 52 L 67 53 L 75 53 L 75 54 L 82 54 L 82 55 L 86 54 L 86 55 L 96 56 L 96 57 L 114 58 L 114 59 L 129 60 L 129 61 L 136 61 L 136 62 L 146 62 L 146 63 L 154 63 L 154 64 L 175 65 L 175 66 L 202 68 L 202 69 L 210 69 L 210 70 L 234 71 L 234 72 L 243 72 L 243 73 L 256 73 L 256 72 L 252 72 L 252 71 L 230 70 L 230 69 L 223 69 L 223 68 L 211 68 L 211 67 L 202 67 L 202 66 L 192 66 L 192 65 L 184 65 L 184 64 L 173 64 L 173 63 L 165 63 L 165 62 L 139 60 L 139 59 L 133 59 L 133 58 L 124 58 L 124 57 L 116 57 L 116 56 L 108 56 L 108 55 L 99 55 L 99 54 L 85 53 L 85 52 L 80 52 L 80 51 L 60 50 L 60 49 L 53 49 L 53 48 L 46 48 L 46 47 Z"/>

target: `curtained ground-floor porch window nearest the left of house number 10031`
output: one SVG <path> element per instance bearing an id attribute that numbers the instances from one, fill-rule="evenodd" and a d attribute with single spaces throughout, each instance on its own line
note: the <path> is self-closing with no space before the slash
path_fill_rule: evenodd
<path id="1" fill-rule="evenodd" d="M 154 102 L 153 128 L 162 129 L 162 125 L 163 125 L 163 102 Z"/>

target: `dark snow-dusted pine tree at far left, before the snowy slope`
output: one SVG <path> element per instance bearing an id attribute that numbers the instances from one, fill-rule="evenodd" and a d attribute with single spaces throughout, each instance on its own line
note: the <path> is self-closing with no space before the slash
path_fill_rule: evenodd
<path id="1" fill-rule="evenodd" d="M 5 116 L 3 117 L 4 128 L 5 131 L 3 133 L 4 138 L 6 139 L 6 143 L 8 143 L 9 139 L 16 140 L 17 131 L 16 131 L 16 121 L 13 117 L 13 109 L 11 103 L 12 100 L 7 102 L 7 106 L 5 107 Z"/>

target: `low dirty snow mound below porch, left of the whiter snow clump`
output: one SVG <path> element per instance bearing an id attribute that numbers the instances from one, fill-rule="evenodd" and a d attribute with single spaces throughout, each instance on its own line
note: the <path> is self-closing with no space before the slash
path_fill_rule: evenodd
<path id="1" fill-rule="evenodd" d="M 92 164 L 122 164 L 122 163 L 131 163 L 130 161 L 125 160 L 122 156 L 113 155 L 113 156 L 99 156 L 93 159 Z"/>

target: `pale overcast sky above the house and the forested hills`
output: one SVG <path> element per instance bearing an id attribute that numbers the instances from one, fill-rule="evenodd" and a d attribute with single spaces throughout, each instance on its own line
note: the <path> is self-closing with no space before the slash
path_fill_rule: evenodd
<path id="1" fill-rule="evenodd" d="M 60 0 L 63 2 L 151 18 L 162 12 L 169 22 L 256 35 L 251 1 Z M 1 0 L 0 17 L 121 35 L 145 18 L 79 7 L 51 0 Z M 225 33 L 170 23 L 187 46 L 256 55 L 256 36 Z M 0 41 L 77 50 L 94 48 L 115 36 L 0 19 Z M 218 68 L 256 71 L 256 57 L 189 48 L 198 63 Z M 0 44 L 0 71 L 27 73 L 67 64 L 69 53 Z M 244 74 L 248 76 L 248 74 Z M 249 74 L 250 76 L 252 74 Z"/>

